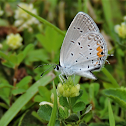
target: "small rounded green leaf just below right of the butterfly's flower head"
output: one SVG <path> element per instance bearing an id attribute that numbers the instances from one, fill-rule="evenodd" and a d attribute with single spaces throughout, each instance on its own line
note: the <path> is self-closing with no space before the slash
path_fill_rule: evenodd
<path id="1" fill-rule="evenodd" d="M 85 108 L 85 103 L 82 102 L 82 101 L 80 101 L 80 102 L 77 102 L 77 103 L 73 106 L 72 110 L 73 110 L 74 112 L 78 112 L 78 111 L 84 110 L 84 108 Z"/>

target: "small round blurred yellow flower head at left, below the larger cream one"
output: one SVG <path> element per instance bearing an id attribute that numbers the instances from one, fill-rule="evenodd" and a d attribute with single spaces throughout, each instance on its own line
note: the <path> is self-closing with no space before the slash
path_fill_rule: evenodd
<path id="1" fill-rule="evenodd" d="M 7 36 L 7 44 L 12 48 L 12 49 L 17 49 L 22 45 L 22 37 L 20 34 L 10 34 Z"/>

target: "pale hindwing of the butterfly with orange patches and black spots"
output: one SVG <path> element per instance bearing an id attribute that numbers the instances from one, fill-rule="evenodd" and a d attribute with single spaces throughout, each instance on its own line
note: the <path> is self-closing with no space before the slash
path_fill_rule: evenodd
<path id="1" fill-rule="evenodd" d="M 68 50 L 64 65 L 68 74 L 95 79 L 91 71 L 100 70 L 107 58 L 108 50 L 103 36 L 98 32 L 81 35 Z"/>

